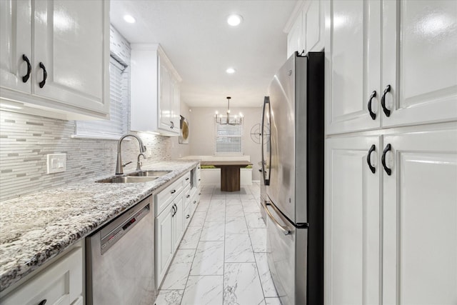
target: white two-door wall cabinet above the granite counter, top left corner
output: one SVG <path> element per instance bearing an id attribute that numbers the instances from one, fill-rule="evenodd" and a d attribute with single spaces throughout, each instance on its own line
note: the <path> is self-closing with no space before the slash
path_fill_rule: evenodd
<path id="1" fill-rule="evenodd" d="M 6 0 L 0 9 L 2 99 L 59 119 L 109 116 L 109 1 Z"/>

